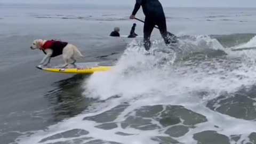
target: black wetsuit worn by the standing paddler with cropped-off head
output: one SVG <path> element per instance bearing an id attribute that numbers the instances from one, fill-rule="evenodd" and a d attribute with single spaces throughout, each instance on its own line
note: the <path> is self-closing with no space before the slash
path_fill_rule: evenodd
<path id="1" fill-rule="evenodd" d="M 158 0 L 136 0 L 132 15 L 135 15 L 138 12 L 140 6 L 145 14 L 145 23 L 143 28 L 145 49 L 150 49 L 150 36 L 155 25 L 158 26 L 165 44 L 170 44 L 171 38 L 167 33 L 165 14 L 162 4 Z"/>

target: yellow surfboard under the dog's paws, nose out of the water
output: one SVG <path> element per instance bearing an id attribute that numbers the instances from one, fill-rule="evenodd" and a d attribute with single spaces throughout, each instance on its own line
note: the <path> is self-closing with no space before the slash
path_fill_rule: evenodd
<path id="1" fill-rule="evenodd" d="M 81 62 L 81 63 L 75 63 L 75 65 L 69 64 L 65 68 L 62 68 L 61 65 L 36 66 L 36 68 L 44 71 L 49 71 L 53 73 L 65 73 L 65 74 L 93 74 L 98 71 L 108 71 L 113 67 L 114 66 L 109 66 L 99 62 Z"/>

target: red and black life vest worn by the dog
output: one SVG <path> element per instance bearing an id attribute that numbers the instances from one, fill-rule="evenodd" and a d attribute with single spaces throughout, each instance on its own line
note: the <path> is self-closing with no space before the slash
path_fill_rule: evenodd
<path id="1" fill-rule="evenodd" d="M 55 40 L 51 40 L 51 41 L 46 41 L 41 47 L 40 50 L 42 50 L 45 53 L 46 49 L 52 49 L 52 55 L 51 57 L 57 57 L 58 55 L 62 54 L 62 51 L 64 49 L 65 46 L 67 46 L 67 42 L 61 42 L 61 41 L 55 41 Z"/>

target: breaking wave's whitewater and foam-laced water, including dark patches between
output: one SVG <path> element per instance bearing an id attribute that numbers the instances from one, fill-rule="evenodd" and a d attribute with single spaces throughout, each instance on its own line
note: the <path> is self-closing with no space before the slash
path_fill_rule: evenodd
<path id="1" fill-rule="evenodd" d="M 132 41 L 113 70 L 85 79 L 84 97 L 98 102 L 17 142 L 255 143 L 256 51 L 210 36 L 181 36 L 178 47 L 155 40 L 148 55 Z"/>

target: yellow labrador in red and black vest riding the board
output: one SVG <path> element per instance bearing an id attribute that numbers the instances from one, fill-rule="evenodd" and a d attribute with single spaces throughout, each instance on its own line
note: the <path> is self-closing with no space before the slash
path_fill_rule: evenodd
<path id="1" fill-rule="evenodd" d="M 40 63 L 40 65 L 43 65 L 43 66 L 46 66 L 48 63 L 50 63 L 51 58 L 57 57 L 58 55 L 61 55 L 61 54 L 65 62 L 63 67 L 68 66 L 69 60 L 73 60 L 73 62 L 71 63 L 74 64 L 76 62 L 75 56 L 78 58 L 84 57 L 81 54 L 81 52 L 78 51 L 76 46 L 74 46 L 73 44 L 69 44 L 67 42 L 62 42 L 62 41 L 36 39 L 33 42 L 32 46 L 30 46 L 30 49 L 32 50 L 38 49 L 44 52 L 45 57 Z"/>

